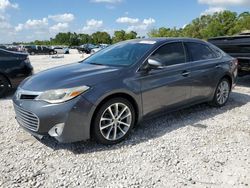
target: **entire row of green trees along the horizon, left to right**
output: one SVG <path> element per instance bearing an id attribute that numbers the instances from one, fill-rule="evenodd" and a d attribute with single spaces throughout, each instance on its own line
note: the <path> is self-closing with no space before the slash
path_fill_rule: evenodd
<path id="1" fill-rule="evenodd" d="M 183 28 L 161 27 L 152 29 L 149 37 L 192 37 L 208 39 L 211 37 L 234 35 L 244 30 L 250 30 L 250 12 L 237 14 L 231 11 L 217 12 L 212 15 L 202 15 L 194 19 Z M 36 40 L 29 44 L 36 45 L 66 45 L 79 46 L 81 44 L 112 44 L 120 41 L 139 38 L 135 31 L 115 31 L 113 36 L 107 32 L 97 31 L 91 35 L 84 33 L 58 33 L 47 41 Z"/>

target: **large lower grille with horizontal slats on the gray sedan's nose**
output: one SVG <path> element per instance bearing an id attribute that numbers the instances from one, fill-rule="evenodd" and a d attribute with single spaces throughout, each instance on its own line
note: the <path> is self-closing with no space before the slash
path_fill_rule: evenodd
<path id="1" fill-rule="evenodd" d="M 27 110 L 24 110 L 17 105 L 14 105 L 14 108 L 16 112 L 16 120 L 21 126 L 32 131 L 38 130 L 39 118 L 35 114 Z"/>

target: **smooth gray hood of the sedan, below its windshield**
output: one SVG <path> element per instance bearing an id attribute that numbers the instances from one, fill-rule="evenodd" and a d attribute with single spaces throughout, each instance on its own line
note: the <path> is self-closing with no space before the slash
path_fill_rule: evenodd
<path id="1" fill-rule="evenodd" d="M 83 85 L 91 87 L 114 79 L 119 75 L 120 69 L 104 65 L 74 63 L 35 74 L 25 80 L 20 88 L 29 91 L 46 91 Z"/>

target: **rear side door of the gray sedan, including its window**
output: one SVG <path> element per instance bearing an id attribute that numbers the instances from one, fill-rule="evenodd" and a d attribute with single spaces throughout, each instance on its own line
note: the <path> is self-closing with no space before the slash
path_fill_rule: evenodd
<path id="1" fill-rule="evenodd" d="M 192 79 L 191 100 L 213 95 L 219 79 L 220 57 L 206 43 L 185 42 Z"/>

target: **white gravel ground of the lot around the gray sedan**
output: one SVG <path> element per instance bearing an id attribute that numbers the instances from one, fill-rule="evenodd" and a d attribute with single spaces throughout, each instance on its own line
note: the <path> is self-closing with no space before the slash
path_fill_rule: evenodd
<path id="1" fill-rule="evenodd" d="M 30 57 L 35 72 L 82 59 Z M 250 77 L 228 104 L 146 120 L 116 146 L 35 139 L 0 100 L 0 187 L 250 187 Z"/>

